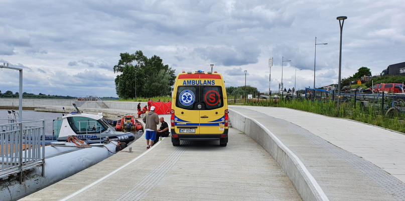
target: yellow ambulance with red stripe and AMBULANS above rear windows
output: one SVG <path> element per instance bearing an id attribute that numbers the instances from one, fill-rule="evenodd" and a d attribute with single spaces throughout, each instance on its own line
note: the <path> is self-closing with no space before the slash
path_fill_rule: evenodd
<path id="1" fill-rule="evenodd" d="M 219 140 L 228 143 L 228 102 L 220 73 L 182 72 L 172 95 L 171 132 L 173 146 L 180 140 Z"/>

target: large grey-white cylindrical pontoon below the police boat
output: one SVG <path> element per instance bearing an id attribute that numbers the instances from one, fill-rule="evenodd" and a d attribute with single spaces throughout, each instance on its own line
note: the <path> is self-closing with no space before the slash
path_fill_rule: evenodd
<path id="1" fill-rule="evenodd" d="M 41 175 L 42 167 L 35 167 L 24 173 L 22 183 L 13 177 L 0 181 L 0 200 L 18 200 L 43 189 L 112 156 L 116 147 L 116 142 L 94 144 L 90 148 L 46 146 L 45 176 Z"/>

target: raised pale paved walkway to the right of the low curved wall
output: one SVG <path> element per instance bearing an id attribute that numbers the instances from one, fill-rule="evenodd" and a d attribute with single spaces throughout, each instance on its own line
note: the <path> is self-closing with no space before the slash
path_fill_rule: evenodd
<path id="1" fill-rule="evenodd" d="M 330 200 L 405 200 L 405 135 L 286 108 L 229 106 L 270 130 Z"/>

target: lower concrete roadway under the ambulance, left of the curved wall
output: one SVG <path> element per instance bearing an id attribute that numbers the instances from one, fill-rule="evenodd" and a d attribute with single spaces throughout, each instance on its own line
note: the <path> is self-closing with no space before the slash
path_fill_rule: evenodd
<path id="1" fill-rule="evenodd" d="M 263 148 L 236 129 L 229 143 L 164 138 L 146 150 L 141 137 L 107 160 L 21 200 L 60 200 L 144 154 L 68 200 L 301 200 L 286 173 Z"/>

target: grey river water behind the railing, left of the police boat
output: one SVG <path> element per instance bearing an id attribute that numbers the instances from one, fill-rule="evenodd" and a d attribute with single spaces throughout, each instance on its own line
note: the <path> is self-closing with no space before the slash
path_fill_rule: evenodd
<path id="1" fill-rule="evenodd" d="M 0 119 L 8 119 L 8 112 L 11 110 L 0 109 Z M 18 108 L 14 110 L 18 112 Z M 45 120 L 45 135 L 52 135 L 53 120 L 62 119 L 62 113 L 35 112 L 33 110 L 23 110 L 23 120 Z M 0 124 L 7 124 L 7 121 L 0 121 Z"/>

